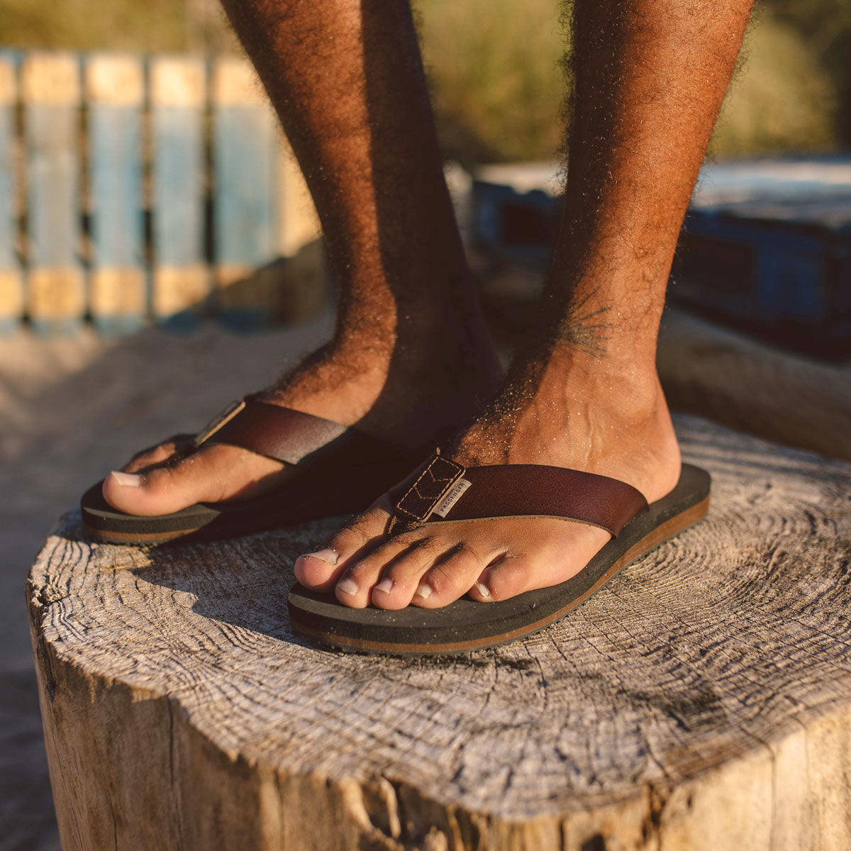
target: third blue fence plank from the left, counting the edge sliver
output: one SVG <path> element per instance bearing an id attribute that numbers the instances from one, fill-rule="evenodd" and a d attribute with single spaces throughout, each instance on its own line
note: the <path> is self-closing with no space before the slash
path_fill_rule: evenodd
<path id="1" fill-rule="evenodd" d="M 85 82 L 92 212 L 89 313 L 101 334 L 129 334 L 145 322 L 148 302 L 143 267 L 142 62 L 134 56 L 91 55 Z"/>

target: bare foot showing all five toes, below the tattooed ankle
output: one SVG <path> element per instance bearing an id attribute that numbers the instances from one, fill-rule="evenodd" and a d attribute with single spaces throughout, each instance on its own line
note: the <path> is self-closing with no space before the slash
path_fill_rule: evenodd
<path id="1" fill-rule="evenodd" d="M 659 500 L 677 483 L 680 454 L 655 373 L 601 372 L 574 364 L 513 380 L 444 454 L 465 466 L 599 473 Z M 433 523 L 388 538 L 391 511 L 382 497 L 317 554 L 300 557 L 301 584 L 333 588 L 354 608 L 437 608 L 464 594 L 490 602 L 568 580 L 609 540 L 603 529 L 540 517 Z"/>

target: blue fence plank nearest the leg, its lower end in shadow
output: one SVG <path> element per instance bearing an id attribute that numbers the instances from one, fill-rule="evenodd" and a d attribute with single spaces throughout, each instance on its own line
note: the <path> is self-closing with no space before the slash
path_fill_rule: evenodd
<path id="1" fill-rule="evenodd" d="M 221 58 L 213 77 L 214 262 L 220 322 L 252 330 L 275 318 L 280 131 L 254 69 Z"/>

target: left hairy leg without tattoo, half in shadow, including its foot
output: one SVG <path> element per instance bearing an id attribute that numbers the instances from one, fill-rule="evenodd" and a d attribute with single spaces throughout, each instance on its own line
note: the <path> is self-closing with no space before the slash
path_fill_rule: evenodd
<path id="1" fill-rule="evenodd" d="M 407 3 L 223 3 L 304 171 L 340 285 L 334 340 L 268 399 L 411 446 L 459 427 L 500 370 L 443 181 Z M 157 514 L 257 494 L 281 470 L 226 446 L 182 461 L 173 453 L 163 444 L 135 458 L 107 478 L 106 499 Z"/>

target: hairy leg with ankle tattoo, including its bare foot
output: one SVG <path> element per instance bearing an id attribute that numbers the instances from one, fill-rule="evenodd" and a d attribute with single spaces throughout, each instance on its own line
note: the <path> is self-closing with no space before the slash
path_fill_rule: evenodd
<path id="1" fill-rule="evenodd" d="M 683 214 L 734 71 L 751 0 L 577 0 L 563 219 L 540 319 L 488 411 L 446 454 L 462 464 L 550 464 L 619 478 L 658 500 L 677 438 L 655 368 Z M 437 607 L 553 585 L 608 540 L 546 518 L 438 523 L 384 538 L 380 500 L 301 557 L 340 602 Z M 369 544 L 364 548 L 364 541 Z M 333 564 L 331 562 L 334 562 Z"/>

